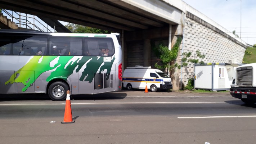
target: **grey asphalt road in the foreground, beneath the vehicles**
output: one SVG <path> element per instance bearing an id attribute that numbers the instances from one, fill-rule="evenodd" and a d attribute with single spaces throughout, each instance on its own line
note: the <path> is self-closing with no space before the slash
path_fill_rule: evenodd
<path id="1" fill-rule="evenodd" d="M 120 91 L 74 95 L 75 123 L 62 124 L 66 101 L 47 95 L 0 96 L 1 144 L 255 144 L 256 105 L 229 93 Z"/>

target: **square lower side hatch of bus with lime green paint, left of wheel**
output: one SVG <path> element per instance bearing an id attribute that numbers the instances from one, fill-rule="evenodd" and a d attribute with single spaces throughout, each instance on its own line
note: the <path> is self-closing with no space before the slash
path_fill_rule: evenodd
<path id="1" fill-rule="evenodd" d="M 19 73 L 24 75 L 17 77 L 17 93 L 35 93 L 35 71 L 17 71 L 17 75 Z"/>

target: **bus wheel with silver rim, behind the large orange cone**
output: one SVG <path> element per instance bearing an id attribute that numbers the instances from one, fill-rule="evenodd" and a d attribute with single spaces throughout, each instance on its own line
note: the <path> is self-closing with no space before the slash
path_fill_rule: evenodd
<path id="1" fill-rule="evenodd" d="M 48 95 L 52 100 L 64 100 L 67 97 L 68 85 L 64 82 L 53 82 L 48 89 Z"/>

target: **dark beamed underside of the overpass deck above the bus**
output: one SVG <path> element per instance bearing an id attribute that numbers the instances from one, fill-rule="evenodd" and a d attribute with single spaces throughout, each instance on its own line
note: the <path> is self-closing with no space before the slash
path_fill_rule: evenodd
<path id="1" fill-rule="evenodd" d="M 119 33 L 121 30 L 146 30 L 177 24 L 114 0 L 0 0 L 0 7 Z"/>

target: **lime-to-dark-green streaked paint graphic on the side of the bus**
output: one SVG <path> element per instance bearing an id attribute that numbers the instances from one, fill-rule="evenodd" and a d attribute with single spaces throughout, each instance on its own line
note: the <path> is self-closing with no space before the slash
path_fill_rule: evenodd
<path id="1" fill-rule="evenodd" d="M 96 73 L 99 68 L 100 73 L 103 72 L 104 69 L 107 69 L 107 73 L 111 71 L 114 59 L 115 58 L 113 58 L 111 62 L 103 62 L 103 57 L 34 56 L 26 65 L 15 72 L 9 80 L 5 82 L 5 85 L 20 82 L 24 85 L 22 89 L 24 92 L 42 73 L 50 70 L 52 70 L 52 72 L 50 76 L 46 78 L 46 81 L 49 82 L 56 77 L 67 80 L 68 76 L 70 76 L 74 70 L 76 70 L 75 72 L 77 73 L 86 62 L 86 67 L 79 80 L 89 81 L 91 83 L 94 78 L 94 73 Z"/>

